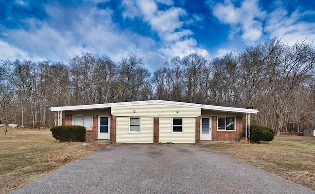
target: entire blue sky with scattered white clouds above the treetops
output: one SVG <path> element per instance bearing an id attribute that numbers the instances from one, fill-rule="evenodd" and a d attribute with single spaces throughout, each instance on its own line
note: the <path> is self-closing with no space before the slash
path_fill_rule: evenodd
<path id="1" fill-rule="evenodd" d="M 273 37 L 315 43 L 315 1 L 0 0 L 2 60 L 136 52 L 154 71 L 174 56 L 212 59 Z"/>

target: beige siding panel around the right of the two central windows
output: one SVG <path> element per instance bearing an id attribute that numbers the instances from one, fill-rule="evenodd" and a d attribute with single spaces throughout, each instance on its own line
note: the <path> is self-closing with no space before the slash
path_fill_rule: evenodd
<path id="1" fill-rule="evenodd" d="M 160 117 L 159 118 L 159 142 L 173 142 L 173 143 L 195 143 L 196 133 L 196 118 L 183 118 L 182 134 L 172 133 L 173 118 Z"/>

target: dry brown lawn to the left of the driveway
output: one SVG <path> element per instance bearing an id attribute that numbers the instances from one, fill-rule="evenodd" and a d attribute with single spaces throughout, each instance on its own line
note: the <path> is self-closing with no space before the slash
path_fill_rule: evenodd
<path id="1" fill-rule="evenodd" d="M 86 157 L 99 149 L 82 142 L 58 143 L 48 128 L 13 129 L 5 135 L 0 127 L 0 194 L 6 194 Z"/>

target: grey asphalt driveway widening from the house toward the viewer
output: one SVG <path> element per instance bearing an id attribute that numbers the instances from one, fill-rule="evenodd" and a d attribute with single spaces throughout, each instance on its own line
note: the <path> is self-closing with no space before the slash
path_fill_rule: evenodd
<path id="1" fill-rule="evenodd" d="M 315 194 L 198 145 L 115 145 L 14 194 Z"/>

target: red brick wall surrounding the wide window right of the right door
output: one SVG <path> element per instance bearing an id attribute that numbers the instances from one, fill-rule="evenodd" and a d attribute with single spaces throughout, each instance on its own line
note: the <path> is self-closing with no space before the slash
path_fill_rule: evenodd
<path id="1" fill-rule="evenodd" d="M 235 117 L 235 131 L 217 131 L 217 117 L 212 117 L 212 141 L 240 141 L 242 138 L 242 117 Z"/>

